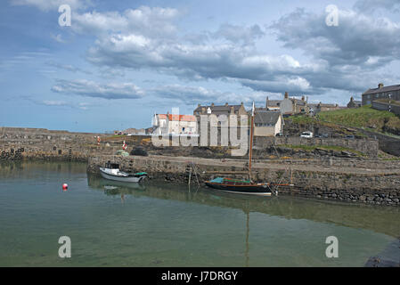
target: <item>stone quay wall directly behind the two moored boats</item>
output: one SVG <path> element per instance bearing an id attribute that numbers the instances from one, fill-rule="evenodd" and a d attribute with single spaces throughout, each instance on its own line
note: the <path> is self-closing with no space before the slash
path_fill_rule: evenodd
<path id="1" fill-rule="evenodd" d="M 87 170 L 99 174 L 98 167 L 106 162 L 118 163 L 128 172 L 149 174 L 151 180 L 168 183 L 191 183 L 196 185 L 217 176 L 247 177 L 246 163 L 221 161 L 220 159 L 120 157 L 96 156 L 89 159 Z M 271 165 L 255 163 L 253 179 L 257 182 L 293 183 L 293 187 L 280 187 L 280 194 L 302 196 L 314 199 L 335 199 L 347 202 L 361 202 L 373 205 L 400 206 L 400 172 L 397 168 L 375 169 L 370 172 L 358 168 L 317 168 L 301 165 Z M 193 167 L 194 165 L 194 167 Z M 235 172 L 235 174 L 233 174 Z M 241 172 L 241 173 L 238 173 Z"/>

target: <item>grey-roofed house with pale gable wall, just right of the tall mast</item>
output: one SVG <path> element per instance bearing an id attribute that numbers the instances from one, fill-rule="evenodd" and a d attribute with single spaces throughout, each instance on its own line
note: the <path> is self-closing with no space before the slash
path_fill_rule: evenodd
<path id="1" fill-rule="evenodd" d="M 280 111 L 257 111 L 254 114 L 254 136 L 276 136 L 282 133 L 283 125 Z"/>

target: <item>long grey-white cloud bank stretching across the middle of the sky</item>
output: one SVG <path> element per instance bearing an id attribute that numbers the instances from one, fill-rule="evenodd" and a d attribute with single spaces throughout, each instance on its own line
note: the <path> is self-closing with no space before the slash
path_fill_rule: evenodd
<path id="1" fill-rule="evenodd" d="M 298 75 L 318 69 L 316 65 L 302 65 L 286 54 L 257 54 L 249 45 L 171 43 L 135 34 L 99 38 L 88 51 L 87 59 L 99 66 L 158 69 L 196 80 L 273 80 L 279 74 Z"/>

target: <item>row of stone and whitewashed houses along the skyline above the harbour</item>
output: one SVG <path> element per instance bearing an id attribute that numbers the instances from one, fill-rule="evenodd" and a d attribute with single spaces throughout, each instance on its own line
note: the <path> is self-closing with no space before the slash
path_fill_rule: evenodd
<path id="1" fill-rule="evenodd" d="M 283 95 L 282 100 L 269 100 L 266 97 L 265 106 L 256 108 L 254 127 L 256 136 L 275 136 L 282 134 L 284 125 L 284 117 L 298 113 L 314 115 L 320 111 L 340 110 L 343 108 L 358 108 L 366 104 L 371 104 L 376 100 L 390 99 L 400 101 L 400 85 L 392 85 L 385 87 L 379 84 L 378 88 L 368 89 L 362 94 L 362 101 L 356 101 L 354 97 L 350 98 L 347 107 L 341 107 L 338 104 L 329 103 L 309 103 L 308 98 L 302 96 L 301 99 L 290 98 L 288 93 Z M 373 105 L 373 104 L 372 104 Z M 202 115 L 220 115 L 229 117 L 236 115 L 249 115 L 251 110 L 246 110 L 243 102 L 239 105 L 201 105 L 199 104 L 193 115 L 176 115 L 176 114 L 154 114 L 152 119 L 152 127 L 148 129 L 127 129 L 118 134 L 199 134 L 200 117 Z M 220 123 L 220 122 L 219 122 Z M 219 124 L 216 122 L 216 124 Z M 243 122 L 238 122 L 242 123 Z"/>

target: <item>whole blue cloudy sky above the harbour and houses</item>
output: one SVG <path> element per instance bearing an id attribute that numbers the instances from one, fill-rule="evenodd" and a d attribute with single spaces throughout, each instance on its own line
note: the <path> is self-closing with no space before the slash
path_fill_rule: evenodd
<path id="1" fill-rule="evenodd" d="M 346 105 L 400 84 L 399 16 L 400 0 L 2 0 L 0 126 L 142 128 L 285 92 Z"/>

